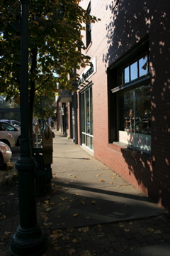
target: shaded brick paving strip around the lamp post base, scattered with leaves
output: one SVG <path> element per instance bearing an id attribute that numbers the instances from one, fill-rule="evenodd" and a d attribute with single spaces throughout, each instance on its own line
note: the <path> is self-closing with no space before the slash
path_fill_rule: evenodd
<path id="1" fill-rule="evenodd" d="M 17 182 L 0 183 L 0 255 L 8 256 L 6 246 L 19 223 Z M 50 237 L 44 255 L 104 255 L 170 241 L 170 214 L 154 218 L 126 220 L 89 227 L 50 229 L 50 196 L 37 198 L 38 223 Z"/>

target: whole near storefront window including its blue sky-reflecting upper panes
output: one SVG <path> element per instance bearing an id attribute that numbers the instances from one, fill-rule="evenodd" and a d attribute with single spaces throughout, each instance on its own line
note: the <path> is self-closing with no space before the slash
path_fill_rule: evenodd
<path id="1" fill-rule="evenodd" d="M 113 69 L 117 84 L 112 92 L 116 99 L 116 122 L 111 124 L 114 142 L 145 151 L 151 151 L 151 97 L 149 84 L 149 53 L 144 51 L 121 67 Z M 114 76 L 114 75 L 113 75 Z M 115 126 L 114 126 L 115 125 Z M 117 135 L 116 135 L 117 134 Z"/>

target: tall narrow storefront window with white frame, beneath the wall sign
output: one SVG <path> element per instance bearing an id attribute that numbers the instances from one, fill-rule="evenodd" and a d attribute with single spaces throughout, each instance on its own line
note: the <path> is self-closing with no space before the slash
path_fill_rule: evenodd
<path id="1" fill-rule="evenodd" d="M 81 93 L 81 144 L 94 149 L 92 87 Z"/>

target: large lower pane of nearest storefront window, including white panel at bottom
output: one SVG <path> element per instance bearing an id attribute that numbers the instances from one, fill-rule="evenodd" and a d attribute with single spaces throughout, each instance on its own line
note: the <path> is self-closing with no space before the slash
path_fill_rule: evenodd
<path id="1" fill-rule="evenodd" d="M 119 142 L 150 151 L 150 85 L 118 93 L 118 110 Z"/>

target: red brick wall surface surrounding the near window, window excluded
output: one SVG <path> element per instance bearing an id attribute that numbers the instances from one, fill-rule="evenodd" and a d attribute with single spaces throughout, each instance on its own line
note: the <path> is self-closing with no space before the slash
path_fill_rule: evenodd
<path id="1" fill-rule="evenodd" d="M 91 14 L 101 18 L 92 24 L 92 43 L 84 52 L 96 57 L 97 71 L 90 78 L 94 103 L 94 156 L 170 209 L 170 4 L 158 0 L 119 1 L 111 9 L 111 1 L 91 1 Z M 89 1 L 81 2 L 84 9 Z M 149 37 L 152 94 L 152 152 L 132 152 L 108 144 L 108 80 L 107 68 Z M 84 33 L 84 41 L 85 41 Z M 83 72 L 81 68 L 80 74 Z M 79 122 L 78 122 L 79 124 Z M 79 140 L 80 142 L 80 140 Z"/>

